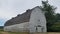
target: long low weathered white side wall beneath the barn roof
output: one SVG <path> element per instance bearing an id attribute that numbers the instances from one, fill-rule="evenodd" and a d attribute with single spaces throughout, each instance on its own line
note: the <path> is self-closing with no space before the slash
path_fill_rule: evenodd
<path id="1" fill-rule="evenodd" d="M 16 25 L 11 25 L 11 26 L 5 26 L 4 31 L 12 31 L 12 32 L 27 32 L 28 31 L 28 26 L 29 23 L 21 23 L 21 24 L 16 24 Z"/>

